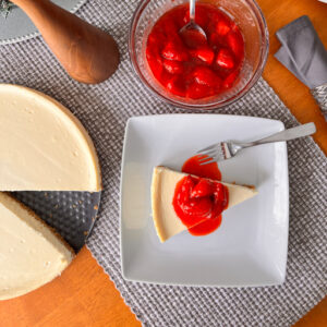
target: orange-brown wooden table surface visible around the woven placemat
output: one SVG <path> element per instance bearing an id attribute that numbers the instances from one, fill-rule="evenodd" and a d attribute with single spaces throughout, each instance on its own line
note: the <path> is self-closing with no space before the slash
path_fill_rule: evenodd
<path id="1" fill-rule="evenodd" d="M 327 123 L 308 89 L 276 59 L 278 28 L 306 14 L 327 48 L 327 4 L 317 0 L 258 0 L 270 33 L 270 53 L 264 77 L 301 123 L 313 121 L 314 138 L 327 154 Z M 72 265 L 49 284 L 9 301 L 0 302 L 0 327 L 134 327 L 141 326 L 124 304 L 111 280 L 84 247 Z M 327 326 L 327 298 L 296 327 Z"/>

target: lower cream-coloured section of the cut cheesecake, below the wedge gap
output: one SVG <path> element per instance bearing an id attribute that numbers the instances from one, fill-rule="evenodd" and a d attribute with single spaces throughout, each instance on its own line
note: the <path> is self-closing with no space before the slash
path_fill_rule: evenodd
<path id="1" fill-rule="evenodd" d="M 0 192 L 0 300 L 51 281 L 73 256 L 73 251 L 34 213 Z"/>

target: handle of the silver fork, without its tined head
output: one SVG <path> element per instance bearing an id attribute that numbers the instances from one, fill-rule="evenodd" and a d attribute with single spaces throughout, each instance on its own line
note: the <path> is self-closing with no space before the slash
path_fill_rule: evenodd
<path id="1" fill-rule="evenodd" d="M 312 135 L 315 132 L 316 132 L 316 126 L 313 122 L 311 122 L 311 123 L 307 123 L 304 125 L 284 130 L 282 132 L 272 134 L 268 137 L 265 137 L 265 138 L 252 142 L 252 143 L 246 143 L 243 145 L 245 147 L 249 147 L 249 146 L 259 145 L 259 144 L 264 144 L 264 143 L 290 141 L 290 140 Z"/>

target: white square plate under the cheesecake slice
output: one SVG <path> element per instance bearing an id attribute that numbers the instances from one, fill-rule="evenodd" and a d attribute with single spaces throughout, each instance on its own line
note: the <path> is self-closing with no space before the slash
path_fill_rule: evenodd
<path id="1" fill-rule="evenodd" d="M 160 243 L 152 219 L 155 166 L 180 170 L 197 149 L 282 131 L 276 120 L 222 114 L 135 117 L 125 131 L 121 175 L 122 274 L 128 280 L 189 286 L 267 286 L 286 276 L 289 184 L 286 143 L 249 148 L 219 162 L 222 181 L 258 195 L 222 214 L 206 237 L 182 232 Z"/>

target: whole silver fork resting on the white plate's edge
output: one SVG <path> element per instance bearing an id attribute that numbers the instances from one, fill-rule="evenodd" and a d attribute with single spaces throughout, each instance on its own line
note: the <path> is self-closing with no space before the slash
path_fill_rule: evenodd
<path id="1" fill-rule="evenodd" d="M 234 157 L 240 150 L 246 147 L 256 146 L 265 143 L 271 143 L 271 142 L 290 141 L 290 140 L 312 135 L 315 132 L 316 132 L 315 124 L 307 123 L 293 129 L 284 130 L 282 132 L 272 134 L 268 137 L 254 141 L 254 142 L 216 143 L 197 152 L 198 156 L 201 157 L 198 161 L 201 162 L 201 165 L 208 165 L 215 161 L 222 161 Z"/>

